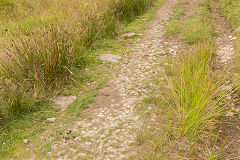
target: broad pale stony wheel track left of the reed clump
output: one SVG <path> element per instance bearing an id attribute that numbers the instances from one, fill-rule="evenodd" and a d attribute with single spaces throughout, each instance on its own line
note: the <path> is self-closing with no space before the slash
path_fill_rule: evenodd
<path id="1" fill-rule="evenodd" d="M 77 136 L 71 141 L 53 142 L 49 158 L 120 160 L 134 157 L 136 134 L 142 125 L 136 114 L 137 102 L 149 92 L 146 83 L 156 74 L 156 69 L 163 69 L 156 66 L 167 57 L 163 50 L 164 22 L 171 17 L 177 2 L 169 0 L 157 11 L 134 51 L 113 68 L 111 80 L 85 110 L 91 118 L 80 119 L 69 126 Z M 175 53 L 173 49 L 170 51 Z"/>

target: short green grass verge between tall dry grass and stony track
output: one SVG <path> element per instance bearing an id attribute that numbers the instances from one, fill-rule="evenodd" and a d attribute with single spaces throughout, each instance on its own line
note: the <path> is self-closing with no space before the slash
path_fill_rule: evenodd
<path id="1" fill-rule="evenodd" d="M 155 7 L 149 10 L 147 13 L 134 20 L 131 23 L 122 27 L 123 32 L 141 33 L 146 27 L 147 22 L 152 18 L 156 9 L 163 4 L 164 1 L 159 0 L 155 3 Z M 137 38 L 137 37 L 135 37 Z M 99 53 L 109 54 L 128 54 L 129 49 L 126 48 L 126 43 L 134 42 L 134 39 L 101 39 L 95 43 L 95 49 L 91 50 L 90 54 L 98 55 Z M 98 63 L 96 63 L 98 64 Z M 65 86 L 62 91 L 66 95 L 76 95 L 78 99 L 71 104 L 63 116 L 56 121 L 55 124 L 61 123 L 67 125 L 72 123 L 78 116 L 83 116 L 81 110 L 87 107 L 88 103 L 94 100 L 94 96 L 97 94 L 97 90 L 103 86 L 107 79 L 104 75 L 107 75 L 107 70 L 111 65 L 97 66 L 96 64 L 90 65 L 85 70 L 79 70 L 76 72 L 74 83 L 70 83 Z M 89 82 L 94 82 L 90 83 Z M 80 93 L 81 91 L 81 93 Z M 27 159 L 26 156 L 31 153 L 36 154 L 38 158 L 43 158 L 46 155 L 46 148 L 39 148 L 36 146 L 42 146 L 39 142 L 39 135 L 52 125 L 46 121 L 49 117 L 58 117 L 60 111 L 53 109 L 50 105 L 39 104 L 41 107 L 35 112 L 31 112 L 27 115 L 12 117 L 11 119 L 1 119 L 1 134 L 0 134 L 0 159 L 20 158 Z M 76 117 L 77 116 L 77 117 Z M 35 146 L 30 150 L 26 150 L 26 144 L 23 143 L 23 139 L 28 139 L 31 146 Z M 46 144 L 48 146 L 48 144 Z M 36 152 L 36 153 L 35 153 Z M 40 158 L 40 159 L 41 159 Z"/>

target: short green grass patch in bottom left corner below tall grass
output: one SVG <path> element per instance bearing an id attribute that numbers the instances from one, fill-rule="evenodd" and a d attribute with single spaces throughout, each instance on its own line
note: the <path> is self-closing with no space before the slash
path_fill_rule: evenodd
<path id="1" fill-rule="evenodd" d="M 25 146 L 23 139 L 30 139 L 44 132 L 48 126 L 46 119 L 58 115 L 58 110 L 41 106 L 41 110 L 31 114 L 1 119 L 0 159 L 10 158 L 20 146 Z M 32 143 L 31 140 L 29 143 Z"/>

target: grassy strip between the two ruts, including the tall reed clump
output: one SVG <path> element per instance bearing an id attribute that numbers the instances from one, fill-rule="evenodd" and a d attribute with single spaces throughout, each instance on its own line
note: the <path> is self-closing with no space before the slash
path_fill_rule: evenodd
<path id="1" fill-rule="evenodd" d="M 184 15 L 184 8 L 177 6 L 175 19 L 167 26 L 166 36 L 182 33 L 182 40 L 193 44 L 193 49 L 180 56 L 165 81 L 155 80 L 159 87 L 143 101 L 140 113 L 149 120 L 144 126 L 150 127 L 138 134 L 139 159 L 216 159 L 221 151 L 216 127 L 227 109 L 231 87 L 224 87 L 224 78 L 212 71 L 215 44 L 210 3 L 198 4 L 180 28 L 173 26 L 176 21 L 181 25 L 178 15 Z"/>

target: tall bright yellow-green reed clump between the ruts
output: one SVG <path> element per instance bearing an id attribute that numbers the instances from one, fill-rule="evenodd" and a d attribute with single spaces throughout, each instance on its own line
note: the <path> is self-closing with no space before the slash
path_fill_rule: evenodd
<path id="1" fill-rule="evenodd" d="M 225 100 L 231 90 L 223 90 L 224 80 L 218 80 L 211 70 L 213 55 L 211 42 L 199 43 L 180 61 L 169 81 L 181 133 L 191 140 L 208 137 L 229 103 Z"/>

